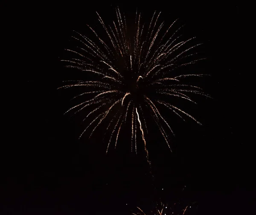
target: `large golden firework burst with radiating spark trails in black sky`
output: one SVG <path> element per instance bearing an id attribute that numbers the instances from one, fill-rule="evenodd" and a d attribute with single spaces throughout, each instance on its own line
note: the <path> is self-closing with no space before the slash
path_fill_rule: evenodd
<path id="1" fill-rule="evenodd" d="M 183 120 L 187 117 L 201 124 L 179 107 L 182 101 L 195 103 L 192 94 L 209 97 L 200 87 L 189 84 L 191 78 L 203 74 L 184 73 L 188 65 L 203 59 L 195 58 L 195 48 L 200 44 L 195 44 L 194 38 L 181 40 L 177 20 L 165 28 L 159 21 L 160 13 L 154 12 L 148 22 L 142 22 L 141 14 L 136 12 L 135 22 L 128 25 L 118 8 L 115 12 L 116 20 L 111 25 L 97 13 L 104 33 L 97 33 L 90 26 L 91 39 L 74 33 L 73 39 L 79 45 L 66 49 L 73 57 L 62 61 L 67 67 L 90 73 L 93 78 L 66 82 L 60 88 L 82 90 L 74 97 L 81 102 L 66 112 L 84 114 L 82 120 L 87 124 L 79 138 L 85 134 L 91 137 L 102 124 L 106 125 L 108 152 L 111 142 L 116 146 L 122 130 L 131 129 L 131 136 L 125 137 L 131 138 L 131 150 L 137 152 L 137 143 L 143 142 L 148 159 L 147 125 L 151 125 L 148 116 L 156 123 L 170 149 L 169 135 L 173 131 L 163 114 L 164 109 L 173 116 Z"/>

